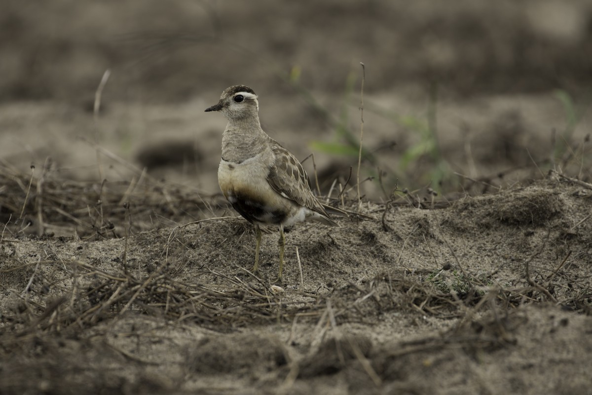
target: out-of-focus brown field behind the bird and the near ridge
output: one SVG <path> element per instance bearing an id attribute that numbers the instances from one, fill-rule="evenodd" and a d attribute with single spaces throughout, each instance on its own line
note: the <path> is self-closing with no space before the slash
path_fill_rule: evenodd
<path id="1" fill-rule="evenodd" d="M 323 193 L 350 166 L 352 187 L 364 75 L 371 198 L 549 168 L 590 178 L 588 0 L 2 3 L 0 159 L 16 169 L 98 181 L 146 169 L 216 194 L 226 121 L 204 109 L 245 84 L 263 129 L 314 153 Z"/>

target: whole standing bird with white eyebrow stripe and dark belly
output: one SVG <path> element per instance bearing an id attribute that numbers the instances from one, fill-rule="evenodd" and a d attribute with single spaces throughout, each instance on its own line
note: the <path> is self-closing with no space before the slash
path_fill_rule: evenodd
<path id="1" fill-rule="evenodd" d="M 224 89 L 218 103 L 205 111 L 219 111 L 228 120 L 222 135 L 218 184 L 234 210 L 255 227 L 255 264 L 251 272 L 259 274 L 259 226 L 278 226 L 279 270 L 274 283 L 282 284 L 284 228 L 309 219 L 339 226 L 327 210 L 347 214 L 320 203 L 298 159 L 261 129 L 259 101 L 253 89 L 230 86 Z"/>

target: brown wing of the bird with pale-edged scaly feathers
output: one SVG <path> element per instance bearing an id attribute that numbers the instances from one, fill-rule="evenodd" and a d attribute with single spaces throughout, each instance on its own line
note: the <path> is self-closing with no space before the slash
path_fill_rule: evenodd
<path id="1" fill-rule="evenodd" d="M 269 185 L 282 196 L 329 217 L 323 205 L 310 190 L 308 175 L 298 159 L 275 141 L 271 149 L 275 155 L 275 163 L 269 171 Z"/>

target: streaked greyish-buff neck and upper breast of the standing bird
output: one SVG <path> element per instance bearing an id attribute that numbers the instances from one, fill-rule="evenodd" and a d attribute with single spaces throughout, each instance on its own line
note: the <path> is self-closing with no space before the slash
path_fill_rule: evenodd
<path id="1" fill-rule="evenodd" d="M 259 118 L 229 121 L 222 135 L 222 159 L 241 163 L 265 150 L 269 136 L 261 129 Z"/>

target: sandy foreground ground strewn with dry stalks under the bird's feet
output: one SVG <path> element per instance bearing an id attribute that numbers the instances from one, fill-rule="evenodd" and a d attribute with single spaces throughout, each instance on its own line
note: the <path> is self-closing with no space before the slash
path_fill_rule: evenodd
<path id="1" fill-rule="evenodd" d="M 556 174 L 439 210 L 366 203 L 288 233 L 282 288 L 275 235 L 252 278 L 234 217 L 98 241 L 5 231 L 0 390 L 585 392 L 591 205 Z"/>

